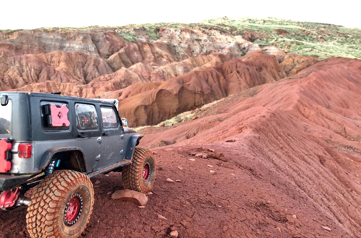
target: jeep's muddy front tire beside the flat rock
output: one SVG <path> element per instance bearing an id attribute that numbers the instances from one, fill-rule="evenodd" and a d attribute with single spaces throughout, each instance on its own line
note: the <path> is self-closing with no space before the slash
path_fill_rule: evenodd
<path id="1" fill-rule="evenodd" d="M 122 170 L 123 187 L 142 193 L 151 191 L 156 178 L 155 165 L 156 161 L 150 150 L 135 148 L 132 162 Z"/>

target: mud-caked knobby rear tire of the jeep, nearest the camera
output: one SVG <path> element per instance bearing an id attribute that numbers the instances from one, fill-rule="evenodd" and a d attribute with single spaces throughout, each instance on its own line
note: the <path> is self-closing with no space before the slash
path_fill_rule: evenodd
<path id="1" fill-rule="evenodd" d="M 30 237 L 79 237 L 89 222 L 93 204 L 93 184 L 86 175 L 71 170 L 54 171 L 32 193 L 26 214 Z M 66 216 L 69 209 L 73 215 L 69 220 L 74 224 L 69 224 Z"/>

